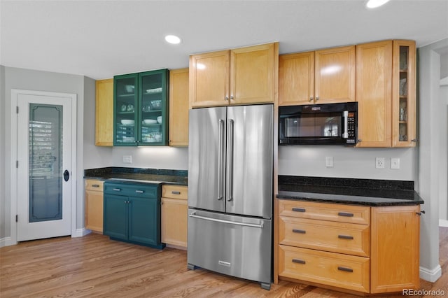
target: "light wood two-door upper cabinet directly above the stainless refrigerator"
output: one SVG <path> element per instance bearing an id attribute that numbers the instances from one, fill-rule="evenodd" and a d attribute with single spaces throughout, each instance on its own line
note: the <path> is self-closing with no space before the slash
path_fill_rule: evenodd
<path id="1" fill-rule="evenodd" d="M 272 103 L 278 43 L 190 56 L 190 108 Z"/>

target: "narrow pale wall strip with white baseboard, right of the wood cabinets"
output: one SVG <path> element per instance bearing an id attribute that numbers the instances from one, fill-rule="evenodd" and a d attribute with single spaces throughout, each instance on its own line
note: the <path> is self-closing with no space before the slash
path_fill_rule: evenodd
<path id="1" fill-rule="evenodd" d="M 435 281 L 442 274 L 439 264 L 440 201 L 440 54 L 448 38 L 419 48 L 419 194 L 425 201 L 420 229 L 420 276 Z"/>

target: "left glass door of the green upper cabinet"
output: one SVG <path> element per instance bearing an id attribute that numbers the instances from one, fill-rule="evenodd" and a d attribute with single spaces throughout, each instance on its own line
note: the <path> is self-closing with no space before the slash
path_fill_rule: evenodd
<path id="1" fill-rule="evenodd" d="M 137 145 L 138 74 L 113 78 L 113 146 Z"/>

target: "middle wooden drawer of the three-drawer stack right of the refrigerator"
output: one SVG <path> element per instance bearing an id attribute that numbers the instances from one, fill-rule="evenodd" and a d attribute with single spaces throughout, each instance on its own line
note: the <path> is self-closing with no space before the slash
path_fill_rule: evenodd
<path id="1" fill-rule="evenodd" d="M 349 255 L 370 255 L 370 227 L 346 222 L 279 218 L 279 243 Z"/>

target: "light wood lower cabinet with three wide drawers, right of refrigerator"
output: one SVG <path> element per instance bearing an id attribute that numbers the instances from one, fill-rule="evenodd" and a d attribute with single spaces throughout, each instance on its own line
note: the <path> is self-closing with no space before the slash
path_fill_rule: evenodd
<path id="1" fill-rule="evenodd" d="M 419 288 L 419 205 L 277 203 L 278 278 L 345 292 Z"/>

